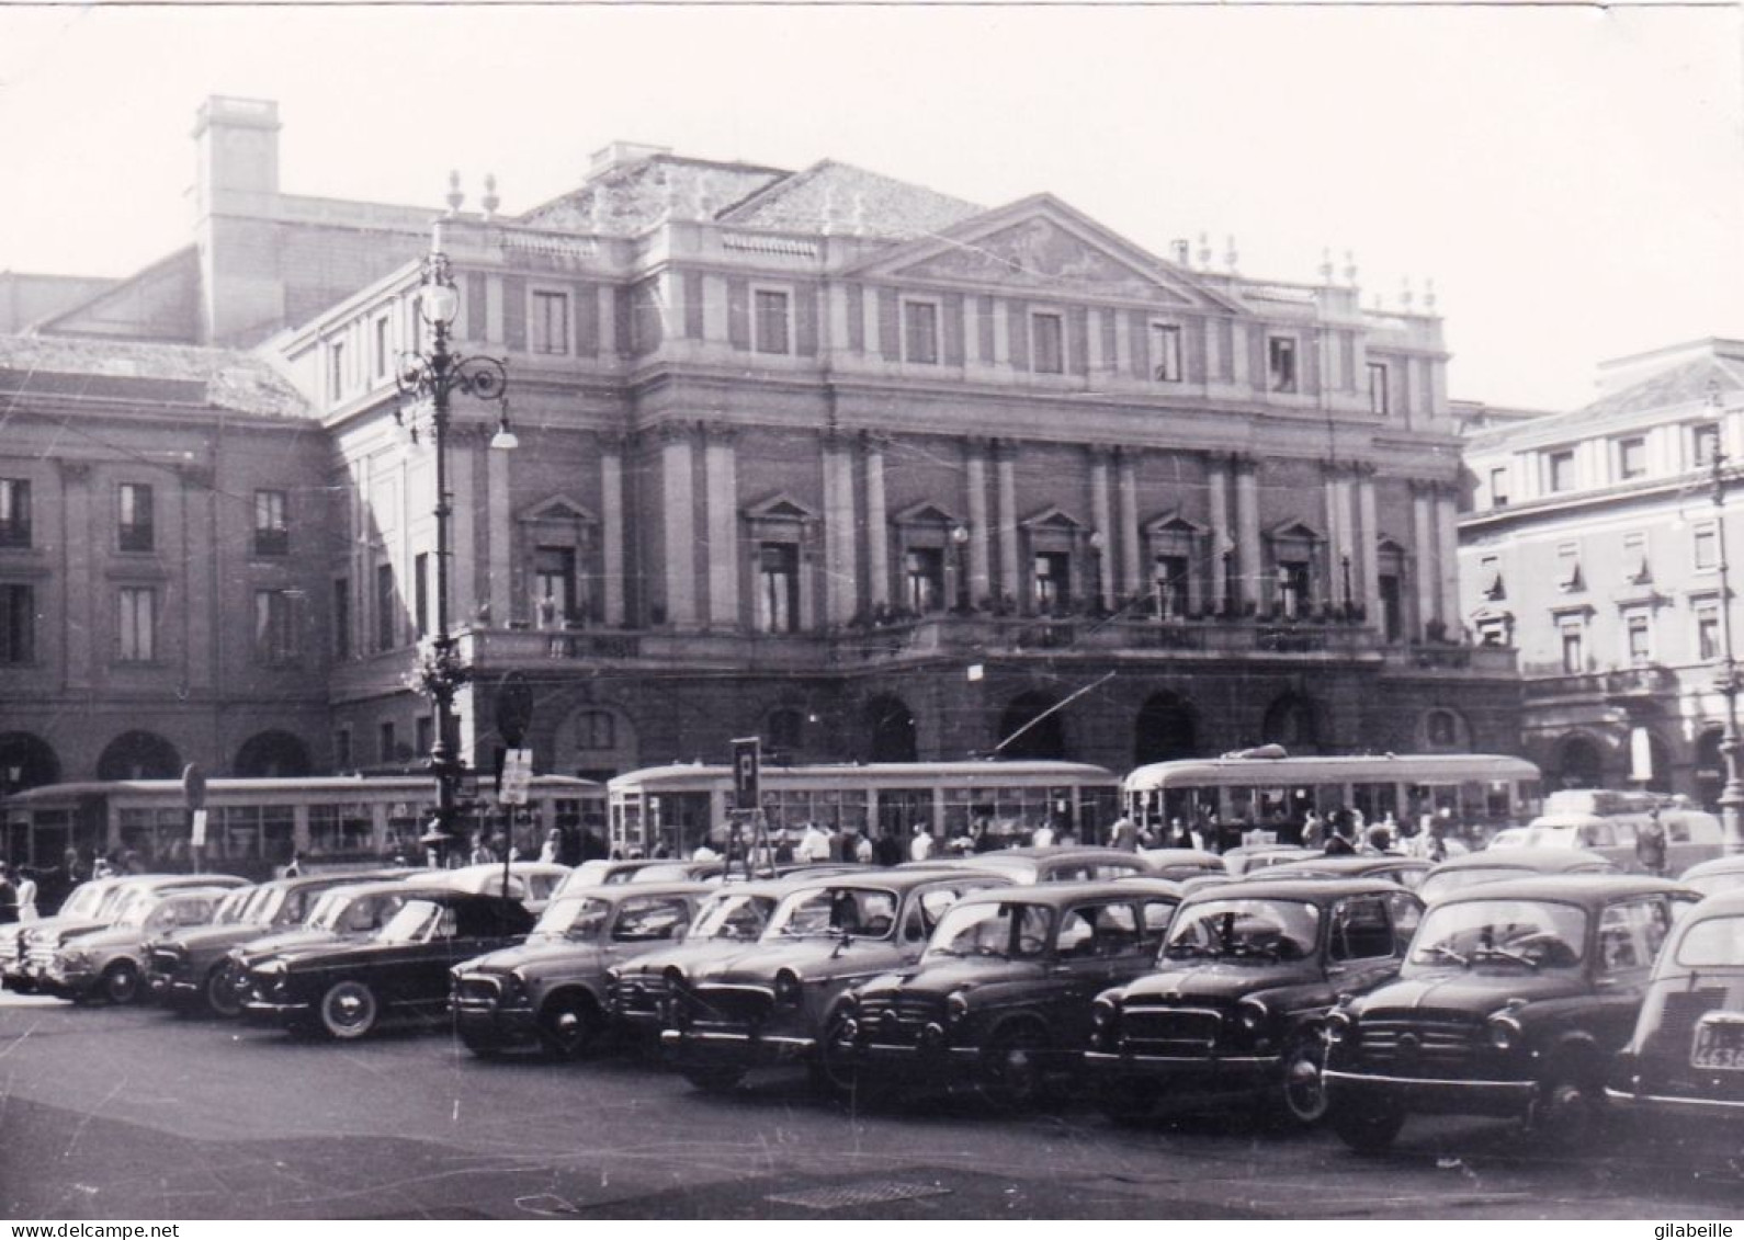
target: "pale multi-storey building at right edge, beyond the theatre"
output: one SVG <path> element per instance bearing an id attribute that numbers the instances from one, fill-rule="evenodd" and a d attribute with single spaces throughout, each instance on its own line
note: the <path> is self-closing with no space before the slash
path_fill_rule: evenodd
<path id="1" fill-rule="evenodd" d="M 1620 358 L 1599 384 L 1584 408 L 1496 420 L 1467 441 L 1465 623 L 1519 651 L 1526 757 L 1552 785 L 1646 783 L 1711 806 L 1720 521 L 1734 565 L 1744 548 L 1737 483 L 1716 490 L 1713 460 L 1744 459 L 1744 342 Z"/>

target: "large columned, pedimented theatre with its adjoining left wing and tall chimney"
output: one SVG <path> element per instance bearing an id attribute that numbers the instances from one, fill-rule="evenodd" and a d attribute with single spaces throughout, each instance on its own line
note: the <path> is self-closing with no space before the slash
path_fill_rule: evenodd
<path id="1" fill-rule="evenodd" d="M 406 673 L 436 462 L 394 373 L 427 345 L 434 213 L 284 194 L 277 124 L 208 101 L 190 246 L 56 288 L 0 351 L 14 780 L 429 748 Z M 1113 767 L 1517 746 L 1512 651 L 1461 640 L 1434 303 L 1364 310 L 1350 263 L 1261 281 L 1233 244 L 1153 255 L 1050 194 L 982 208 L 830 160 L 616 143 L 574 192 L 499 206 L 455 190 L 441 227 L 457 345 L 506 359 L 518 438 L 494 450 L 501 410 L 457 399 L 473 762 L 509 671 L 539 767 L 591 776 L 745 734 Z M 122 732 L 155 760 L 105 764 Z"/>

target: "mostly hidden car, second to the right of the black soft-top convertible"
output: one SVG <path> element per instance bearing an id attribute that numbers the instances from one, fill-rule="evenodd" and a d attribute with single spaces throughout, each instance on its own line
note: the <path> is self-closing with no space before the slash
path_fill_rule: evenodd
<path id="1" fill-rule="evenodd" d="M 642 952 L 607 970 L 605 996 L 614 1031 L 657 1034 L 671 1015 L 673 985 L 755 945 L 781 898 L 807 882 L 816 879 L 795 875 L 715 888 L 684 942 Z"/>

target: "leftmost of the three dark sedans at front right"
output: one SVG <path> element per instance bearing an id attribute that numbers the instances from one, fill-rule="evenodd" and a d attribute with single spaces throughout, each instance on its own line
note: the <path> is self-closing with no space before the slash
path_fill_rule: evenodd
<path id="1" fill-rule="evenodd" d="M 1163 879 L 977 891 L 940 919 L 919 963 L 842 998 L 825 1085 L 975 1085 L 1025 1106 L 1078 1069 L 1090 1001 L 1155 968 L 1181 891 Z"/>

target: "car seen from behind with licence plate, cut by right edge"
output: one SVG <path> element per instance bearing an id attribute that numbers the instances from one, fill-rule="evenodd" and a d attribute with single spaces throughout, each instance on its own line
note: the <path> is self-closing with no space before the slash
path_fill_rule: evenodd
<path id="1" fill-rule="evenodd" d="M 1604 1097 L 1631 1114 L 1700 1125 L 1718 1153 L 1739 1153 L 1744 889 L 1707 896 L 1672 928 Z"/>

